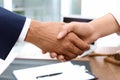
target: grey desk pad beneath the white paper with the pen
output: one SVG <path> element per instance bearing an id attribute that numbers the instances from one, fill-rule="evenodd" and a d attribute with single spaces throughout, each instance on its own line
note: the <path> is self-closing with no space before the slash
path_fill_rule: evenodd
<path id="1" fill-rule="evenodd" d="M 48 64 L 55 64 L 59 63 L 60 61 L 58 60 L 53 60 L 53 59 L 23 59 L 23 58 L 16 58 L 10 65 L 9 67 L 3 72 L 2 75 L 0 75 L 0 80 L 16 80 L 15 76 L 13 75 L 13 70 L 18 70 L 18 69 L 25 69 L 25 68 L 31 68 L 31 67 L 38 67 L 38 66 L 43 66 L 43 65 L 48 65 Z M 86 65 L 87 70 L 91 72 L 90 64 L 89 61 L 76 61 L 72 60 L 72 64 L 77 64 L 77 65 Z"/>

